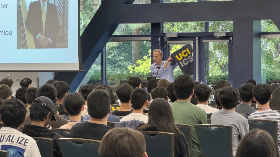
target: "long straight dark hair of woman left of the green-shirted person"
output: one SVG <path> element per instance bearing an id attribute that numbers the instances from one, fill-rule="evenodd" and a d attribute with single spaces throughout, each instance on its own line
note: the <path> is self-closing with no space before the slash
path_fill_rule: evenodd
<path id="1" fill-rule="evenodd" d="M 171 107 L 164 98 L 155 98 L 149 106 L 147 124 L 138 128 L 139 131 L 172 132 L 175 137 L 182 133 L 175 125 Z"/>

